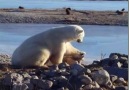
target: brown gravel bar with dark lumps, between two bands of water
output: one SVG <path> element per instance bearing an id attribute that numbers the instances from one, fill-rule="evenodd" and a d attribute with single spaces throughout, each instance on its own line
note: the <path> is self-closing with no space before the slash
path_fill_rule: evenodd
<path id="1" fill-rule="evenodd" d="M 0 23 L 128 26 L 128 12 L 118 15 L 116 11 L 71 10 L 67 15 L 65 9 L 0 9 Z"/>

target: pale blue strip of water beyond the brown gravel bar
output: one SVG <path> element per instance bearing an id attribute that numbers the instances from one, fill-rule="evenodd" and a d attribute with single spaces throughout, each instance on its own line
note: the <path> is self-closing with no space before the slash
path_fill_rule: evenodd
<path id="1" fill-rule="evenodd" d="M 128 11 L 128 1 L 87 1 L 87 0 L 0 0 L 0 8 L 56 9 L 71 7 L 77 10 L 121 10 Z"/>

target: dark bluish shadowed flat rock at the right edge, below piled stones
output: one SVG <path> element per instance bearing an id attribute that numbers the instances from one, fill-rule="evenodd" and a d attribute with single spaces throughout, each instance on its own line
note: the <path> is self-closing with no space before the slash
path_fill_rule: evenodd
<path id="1" fill-rule="evenodd" d="M 109 74 L 123 77 L 128 80 L 128 69 L 127 68 L 116 68 L 116 67 L 103 67 Z"/>

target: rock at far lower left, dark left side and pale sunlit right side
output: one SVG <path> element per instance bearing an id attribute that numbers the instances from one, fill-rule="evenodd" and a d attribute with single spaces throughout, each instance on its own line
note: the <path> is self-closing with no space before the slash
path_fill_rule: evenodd
<path id="1" fill-rule="evenodd" d="M 23 76 L 18 73 L 7 74 L 3 80 L 4 85 L 12 85 L 14 83 L 22 83 Z"/>

